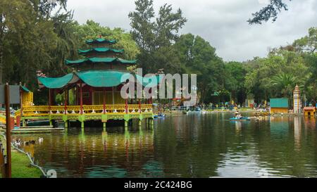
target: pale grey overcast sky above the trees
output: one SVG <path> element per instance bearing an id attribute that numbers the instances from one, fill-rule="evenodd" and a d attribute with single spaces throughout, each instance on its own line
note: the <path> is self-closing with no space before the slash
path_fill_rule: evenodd
<path id="1" fill-rule="evenodd" d="M 244 61 L 266 56 L 270 47 L 292 44 L 317 27 L 317 1 L 292 0 L 275 23 L 249 25 L 251 13 L 259 11 L 267 0 L 154 0 L 154 8 L 172 4 L 187 18 L 181 34 L 199 35 L 216 47 L 223 60 Z M 103 26 L 130 31 L 128 13 L 135 10 L 134 0 L 68 0 L 79 23 L 94 20 Z"/>

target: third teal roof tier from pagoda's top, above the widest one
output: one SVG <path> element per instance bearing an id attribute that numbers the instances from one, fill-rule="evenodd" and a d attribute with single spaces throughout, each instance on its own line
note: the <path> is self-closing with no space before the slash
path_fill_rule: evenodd
<path id="1" fill-rule="evenodd" d="M 84 58 L 79 60 L 65 60 L 66 65 L 77 65 L 83 63 L 123 63 L 123 64 L 135 64 L 137 60 L 124 60 L 120 58 Z"/>

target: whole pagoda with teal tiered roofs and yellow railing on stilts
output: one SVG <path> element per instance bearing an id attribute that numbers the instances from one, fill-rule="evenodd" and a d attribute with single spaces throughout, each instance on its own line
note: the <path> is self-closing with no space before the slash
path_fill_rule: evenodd
<path id="1" fill-rule="evenodd" d="M 69 120 L 78 120 L 84 127 L 87 120 L 101 120 L 106 127 L 108 120 L 125 120 L 125 126 L 131 119 L 142 120 L 153 118 L 151 99 L 142 102 L 140 99 L 123 99 L 120 89 L 128 82 L 130 72 L 127 68 L 136 64 L 136 60 L 120 58 L 123 49 L 112 49 L 116 40 L 99 37 L 87 40 L 90 49 L 79 50 L 85 58 L 66 60 L 66 65 L 74 71 L 63 77 L 46 77 L 38 75 L 40 89 L 49 89 L 48 105 L 24 106 L 21 110 L 22 120 L 41 119 L 63 120 L 68 126 Z M 38 72 L 37 74 L 42 74 Z M 138 75 L 137 82 L 149 87 Z M 157 84 L 151 84 L 151 87 Z M 73 103 L 69 102 L 70 90 L 75 96 Z M 63 103 L 56 105 L 56 94 L 64 95 Z M 55 104 L 55 105 L 54 105 Z"/>

